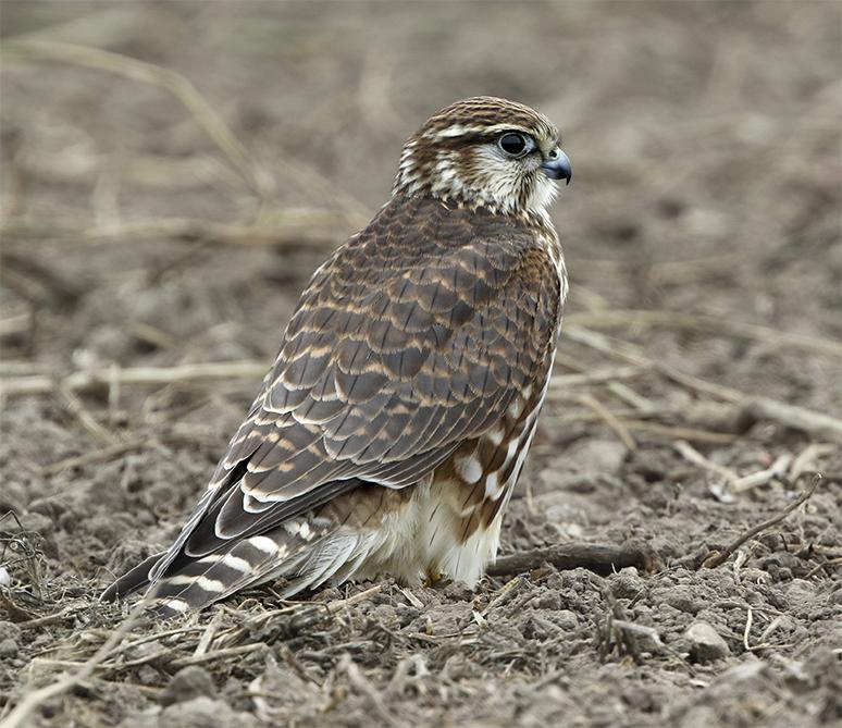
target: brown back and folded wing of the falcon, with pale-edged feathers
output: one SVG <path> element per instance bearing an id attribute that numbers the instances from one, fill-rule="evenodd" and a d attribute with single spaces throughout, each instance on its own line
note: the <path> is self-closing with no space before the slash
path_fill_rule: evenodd
<path id="1" fill-rule="evenodd" d="M 418 482 L 546 377 L 557 286 L 525 225 L 394 198 L 314 273 L 208 493 L 151 573 L 360 483 Z"/>

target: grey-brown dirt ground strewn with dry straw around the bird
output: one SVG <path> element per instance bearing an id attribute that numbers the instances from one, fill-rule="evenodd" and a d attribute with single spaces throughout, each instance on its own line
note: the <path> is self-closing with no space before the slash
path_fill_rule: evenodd
<path id="1" fill-rule="evenodd" d="M 8 725 L 842 725 L 838 3 L 0 13 Z M 557 383 L 502 556 L 648 558 L 261 589 L 114 638 L 129 607 L 98 593 L 178 530 L 308 275 L 404 138 L 476 94 L 553 118 L 574 172 Z"/>

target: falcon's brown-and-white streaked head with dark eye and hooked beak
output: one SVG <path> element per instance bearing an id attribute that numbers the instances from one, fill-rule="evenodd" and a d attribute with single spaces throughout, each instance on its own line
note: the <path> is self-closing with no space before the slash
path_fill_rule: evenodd
<path id="1" fill-rule="evenodd" d="M 522 103 L 476 96 L 457 101 L 407 139 L 393 194 L 515 214 L 543 212 L 556 181 L 570 182 L 558 129 Z"/>

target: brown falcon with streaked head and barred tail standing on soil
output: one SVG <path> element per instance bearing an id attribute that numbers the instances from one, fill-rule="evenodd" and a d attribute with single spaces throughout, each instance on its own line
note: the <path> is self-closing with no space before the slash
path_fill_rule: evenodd
<path id="1" fill-rule="evenodd" d="M 313 273 L 169 548 L 114 581 L 168 617 L 250 585 L 475 588 L 545 399 L 568 276 L 556 126 L 467 98 L 403 147 L 392 196 Z"/>

